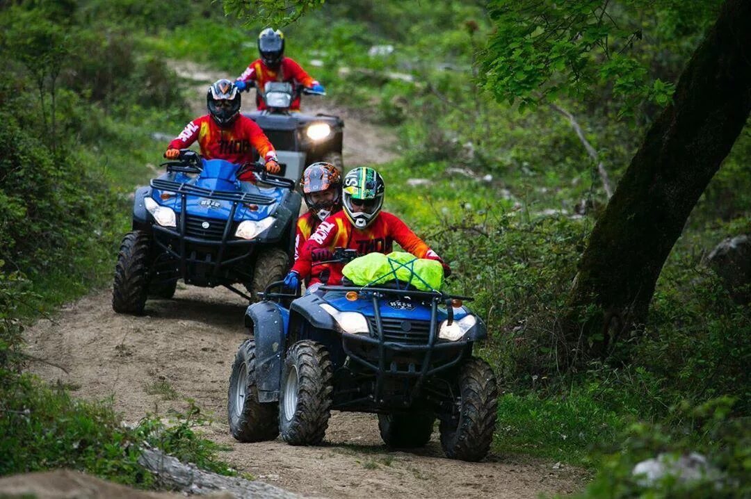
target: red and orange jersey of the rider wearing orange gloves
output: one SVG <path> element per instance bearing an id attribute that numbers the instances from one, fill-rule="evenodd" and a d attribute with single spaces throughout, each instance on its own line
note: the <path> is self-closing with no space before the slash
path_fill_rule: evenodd
<path id="1" fill-rule="evenodd" d="M 206 159 L 224 159 L 234 164 L 253 161 L 253 149 L 264 160 L 276 158 L 276 151 L 261 127 L 252 119 L 237 116 L 228 128 L 216 124 L 210 115 L 194 119 L 168 146 L 169 149 L 184 149 L 198 140 L 201 155 Z M 241 180 L 253 180 L 249 173 Z"/>

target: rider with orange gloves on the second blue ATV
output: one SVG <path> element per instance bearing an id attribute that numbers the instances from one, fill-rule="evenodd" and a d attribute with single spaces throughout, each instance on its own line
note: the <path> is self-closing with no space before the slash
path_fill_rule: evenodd
<path id="1" fill-rule="evenodd" d="M 224 159 L 234 164 L 253 160 L 253 149 L 266 161 L 266 171 L 279 173 L 276 151 L 261 128 L 240 114 L 240 92 L 230 80 L 217 80 L 206 95 L 209 114 L 194 119 L 167 146 L 164 157 L 176 159 L 180 149 L 198 140 L 201 155 L 206 159 Z M 254 182 L 255 173 L 248 170 L 238 178 Z"/>

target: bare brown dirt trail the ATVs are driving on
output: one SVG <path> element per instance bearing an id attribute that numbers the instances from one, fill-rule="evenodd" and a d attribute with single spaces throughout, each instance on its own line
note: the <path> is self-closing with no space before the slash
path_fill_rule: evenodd
<path id="1" fill-rule="evenodd" d="M 387 158 L 388 131 L 351 113 L 345 120 L 345 164 Z M 437 434 L 420 452 L 389 452 L 371 415 L 333 413 L 323 446 L 237 443 L 226 423 L 227 389 L 246 338 L 246 303 L 227 290 L 179 284 L 174 299 L 149 301 L 146 316 L 131 317 L 115 314 L 110 299 L 109 289 L 96 291 L 29 328 L 30 353 L 68 371 L 37 364 L 36 372 L 83 398 L 111 397 L 126 422 L 184 410 L 192 398 L 215 420 L 207 436 L 231 446 L 221 457 L 265 482 L 312 497 L 537 497 L 581 488 L 581 470 L 532 458 L 448 460 Z"/>

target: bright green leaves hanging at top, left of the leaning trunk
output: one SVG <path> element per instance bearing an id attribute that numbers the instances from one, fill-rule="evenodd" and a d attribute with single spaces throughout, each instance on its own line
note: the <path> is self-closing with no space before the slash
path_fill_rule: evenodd
<path id="1" fill-rule="evenodd" d="M 499 100 L 520 107 L 562 95 L 591 98 L 595 89 L 608 87 L 621 116 L 633 116 L 646 102 L 665 106 L 673 85 L 660 79 L 662 61 L 651 48 L 669 44 L 685 54 L 680 43 L 695 42 L 719 8 L 719 2 L 693 5 L 493 0 L 496 31 L 481 55 L 484 85 Z M 654 67 L 658 74 L 650 71 Z M 674 78 L 674 70 L 668 76 Z"/>

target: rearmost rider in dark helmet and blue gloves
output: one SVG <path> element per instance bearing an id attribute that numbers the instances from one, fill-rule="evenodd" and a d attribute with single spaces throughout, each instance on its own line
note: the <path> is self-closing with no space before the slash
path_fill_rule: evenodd
<path id="1" fill-rule="evenodd" d="M 321 83 L 307 74 L 294 59 L 284 56 L 284 34 L 278 29 L 274 31 L 267 28 L 258 35 L 258 52 L 261 53 L 261 58 L 251 62 L 235 81 L 235 86 L 240 91 L 249 88 L 251 82 L 255 82 L 256 88 L 262 91 L 267 82 L 281 81 L 293 84 L 297 82 L 313 92 L 324 92 Z M 255 104 L 258 110 L 266 109 L 260 93 L 255 95 Z M 300 96 L 294 99 L 290 110 L 300 110 Z"/>

